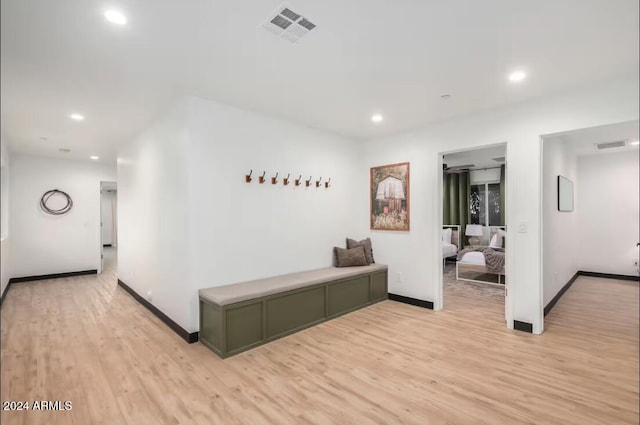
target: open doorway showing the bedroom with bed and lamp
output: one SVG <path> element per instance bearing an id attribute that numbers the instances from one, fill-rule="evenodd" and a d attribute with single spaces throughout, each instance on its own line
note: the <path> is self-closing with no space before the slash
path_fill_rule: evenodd
<path id="1" fill-rule="evenodd" d="M 512 323 L 506 267 L 507 145 L 440 153 L 441 306 Z M 490 312 L 490 313 L 488 313 Z M 485 314 L 483 313 L 483 314 Z"/>

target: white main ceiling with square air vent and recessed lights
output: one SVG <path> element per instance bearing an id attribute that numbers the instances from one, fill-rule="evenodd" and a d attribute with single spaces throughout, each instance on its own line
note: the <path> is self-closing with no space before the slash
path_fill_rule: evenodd
<path id="1" fill-rule="evenodd" d="M 298 44 L 259 28 L 279 4 L 119 0 L 117 27 L 102 0 L 2 0 L 3 138 L 113 160 L 191 94 L 367 139 L 638 75 L 637 0 L 292 0 Z"/>

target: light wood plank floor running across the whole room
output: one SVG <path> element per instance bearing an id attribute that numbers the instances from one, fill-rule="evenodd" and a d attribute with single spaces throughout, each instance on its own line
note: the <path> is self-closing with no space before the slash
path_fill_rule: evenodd
<path id="1" fill-rule="evenodd" d="M 1 398 L 70 400 L 3 424 L 637 424 L 638 284 L 582 277 L 534 336 L 500 303 L 385 301 L 220 360 L 102 276 L 20 283 Z"/>

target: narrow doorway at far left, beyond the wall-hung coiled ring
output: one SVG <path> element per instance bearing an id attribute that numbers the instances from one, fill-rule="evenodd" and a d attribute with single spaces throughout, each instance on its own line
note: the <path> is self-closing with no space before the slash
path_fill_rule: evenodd
<path id="1" fill-rule="evenodd" d="M 100 182 L 100 270 L 115 272 L 118 265 L 118 185 Z"/>

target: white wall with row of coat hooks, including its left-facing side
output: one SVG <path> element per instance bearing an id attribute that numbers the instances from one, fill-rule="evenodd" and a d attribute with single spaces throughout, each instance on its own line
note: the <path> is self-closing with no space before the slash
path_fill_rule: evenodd
<path id="1" fill-rule="evenodd" d="M 354 201 L 368 187 L 358 182 L 359 146 L 183 99 L 119 155 L 119 277 L 143 296 L 152 291 L 151 302 L 193 332 L 199 288 L 330 266 L 333 246 L 365 233 L 356 222 L 367 222 L 366 210 L 359 217 Z M 295 188 L 299 174 L 331 177 L 332 186 Z"/>

